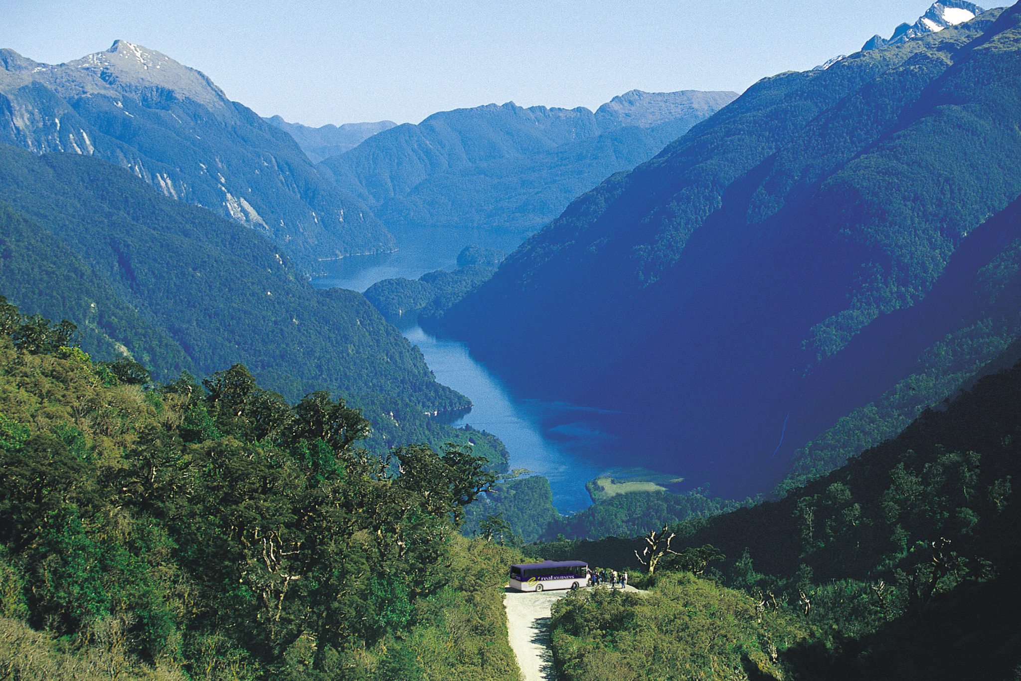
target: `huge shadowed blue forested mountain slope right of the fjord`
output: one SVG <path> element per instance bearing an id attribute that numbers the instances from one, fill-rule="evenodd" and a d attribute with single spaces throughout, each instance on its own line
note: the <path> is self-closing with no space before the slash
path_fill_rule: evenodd
<path id="1" fill-rule="evenodd" d="M 533 391 L 645 415 L 627 434 L 643 465 L 716 493 L 768 489 L 795 449 L 876 400 L 893 418 L 855 436 L 894 435 L 1018 333 L 998 293 L 1017 286 L 1018 16 L 758 83 L 575 201 L 443 325 Z M 1003 240 L 937 286 L 990 230 Z M 881 330 L 930 293 L 926 331 Z M 852 361 L 863 332 L 912 340 Z M 922 399 L 889 393 L 943 369 L 957 382 Z"/>

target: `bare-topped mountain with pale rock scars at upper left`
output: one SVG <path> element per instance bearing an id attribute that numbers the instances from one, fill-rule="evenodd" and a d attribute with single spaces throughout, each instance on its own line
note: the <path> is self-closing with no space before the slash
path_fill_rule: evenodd
<path id="1" fill-rule="evenodd" d="M 306 272 L 393 248 L 290 136 L 199 71 L 125 41 L 57 65 L 0 50 L 0 142 L 104 158 L 271 237 Z"/>

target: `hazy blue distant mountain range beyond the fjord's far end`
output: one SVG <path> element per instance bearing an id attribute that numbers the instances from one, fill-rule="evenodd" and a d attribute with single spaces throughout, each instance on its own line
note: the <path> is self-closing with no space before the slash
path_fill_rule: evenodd
<path id="1" fill-rule="evenodd" d="M 633 90 L 594 112 L 513 102 L 442 111 L 374 135 L 321 167 L 403 239 L 489 231 L 501 239 L 496 245 L 515 246 L 736 96 Z"/>

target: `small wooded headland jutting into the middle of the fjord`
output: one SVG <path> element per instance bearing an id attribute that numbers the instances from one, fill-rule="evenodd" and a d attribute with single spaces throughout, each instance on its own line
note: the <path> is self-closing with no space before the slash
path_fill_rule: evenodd
<path id="1" fill-rule="evenodd" d="M 457 254 L 453 272 L 427 272 L 417 280 L 384 279 L 366 290 L 366 298 L 388 320 L 421 315 L 441 318 L 443 312 L 477 289 L 496 272 L 503 252 L 495 248 L 466 246 Z M 435 320 L 434 320 L 435 321 Z"/>

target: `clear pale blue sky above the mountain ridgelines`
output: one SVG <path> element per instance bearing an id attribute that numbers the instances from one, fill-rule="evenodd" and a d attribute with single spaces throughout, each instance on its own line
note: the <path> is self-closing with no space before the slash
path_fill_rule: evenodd
<path id="1" fill-rule="evenodd" d="M 850 53 L 930 0 L 0 0 L 0 47 L 47 63 L 124 39 L 307 125 L 637 88 L 736 90 Z"/>

